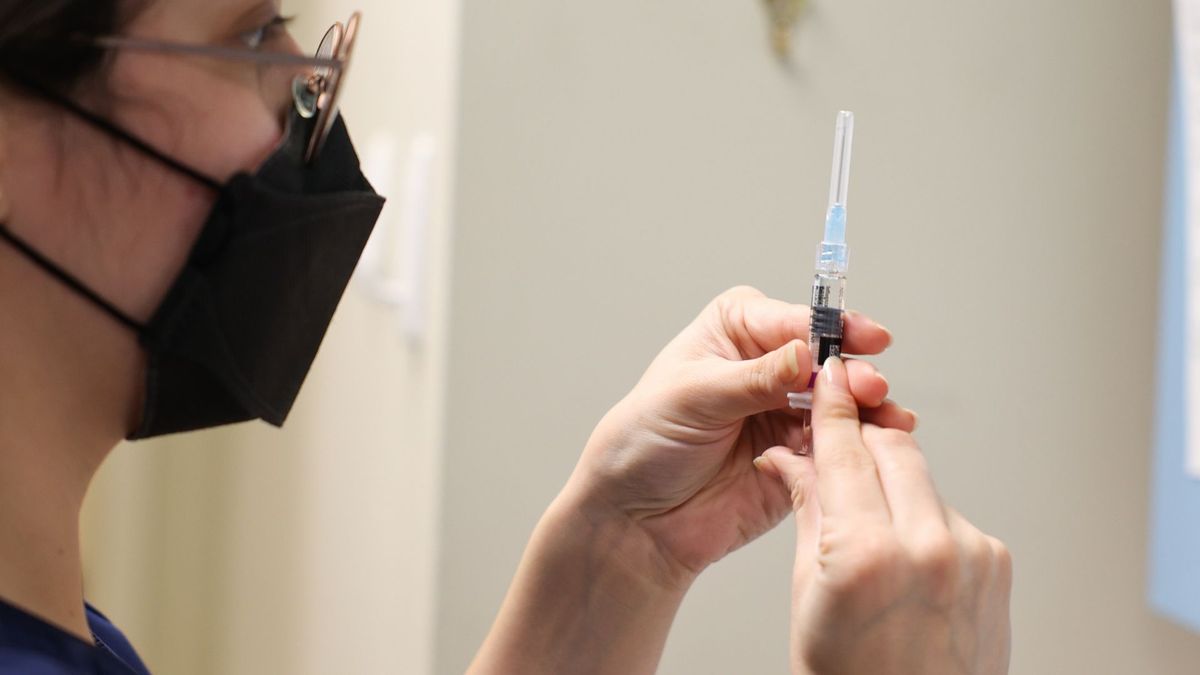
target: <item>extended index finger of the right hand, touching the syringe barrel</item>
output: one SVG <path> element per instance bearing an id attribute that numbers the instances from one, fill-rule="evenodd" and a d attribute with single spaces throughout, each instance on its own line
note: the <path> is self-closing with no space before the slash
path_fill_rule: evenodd
<path id="1" fill-rule="evenodd" d="M 875 458 L 863 443 L 846 365 L 836 357 L 826 362 L 812 393 L 812 461 L 823 514 L 890 520 Z"/>

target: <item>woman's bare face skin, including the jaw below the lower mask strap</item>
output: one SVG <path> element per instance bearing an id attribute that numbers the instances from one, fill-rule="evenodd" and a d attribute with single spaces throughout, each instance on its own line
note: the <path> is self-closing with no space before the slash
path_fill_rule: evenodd
<path id="1" fill-rule="evenodd" d="M 299 52 L 277 0 L 138 1 L 125 35 Z M 224 181 L 271 154 L 296 74 L 251 60 L 121 50 L 71 96 Z M 0 86 L 0 223 L 127 316 L 152 316 L 215 198 L 55 104 Z M 145 368 L 137 336 L 4 243 L 0 312 L 7 380 L 49 387 L 44 402 L 59 417 L 103 428 L 113 441 L 137 424 Z"/>

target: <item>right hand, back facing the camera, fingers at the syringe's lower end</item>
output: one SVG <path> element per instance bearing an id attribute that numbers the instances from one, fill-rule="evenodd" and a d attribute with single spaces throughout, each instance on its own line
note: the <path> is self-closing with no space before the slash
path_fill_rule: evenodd
<path id="1" fill-rule="evenodd" d="M 838 359 L 812 414 L 814 456 L 772 448 L 757 462 L 791 490 L 799 528 L 793 673 L 1007 673 L 1004 544 L 943 507 L 912 436 L 859 422 Z"/>

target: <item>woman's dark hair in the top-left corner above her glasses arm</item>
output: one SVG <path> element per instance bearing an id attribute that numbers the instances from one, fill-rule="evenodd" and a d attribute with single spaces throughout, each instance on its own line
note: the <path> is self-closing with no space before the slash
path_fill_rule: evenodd
<path id="1" fill-rule="evenodd" d="M 70 91 L 106 56 L 79 38 L 116 32 L 128 14 L 125 0 L 0 0 L 0 73 Z"/>

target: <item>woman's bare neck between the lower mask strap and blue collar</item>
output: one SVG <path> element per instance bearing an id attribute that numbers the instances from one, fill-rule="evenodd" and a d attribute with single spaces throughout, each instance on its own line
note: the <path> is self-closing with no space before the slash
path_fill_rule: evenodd
<path id="1" fill-rule="evenodd" d="M 137 371 L 137 346 L 40 274 L 0 244 L 0 598 L 91 641 L 79 510 L 124 436 L 130 383 L 116 374 Z"/>

